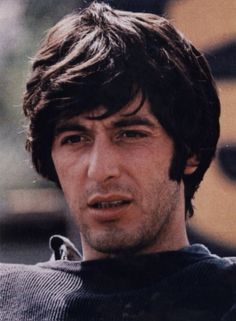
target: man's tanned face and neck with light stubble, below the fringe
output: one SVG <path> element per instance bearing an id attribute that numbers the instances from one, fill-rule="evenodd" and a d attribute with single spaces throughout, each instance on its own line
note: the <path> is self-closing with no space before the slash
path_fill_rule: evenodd
<path id="1" fill-rule="evenodd" d="M 89 119 L 101 107 L 55 130 L 52 159 L 85 259 L 185 245 L 176 241 L 185 225 L 183 186 L 169 179 L 173 142 L 147 100 L 127 116 L 139 98 L 103 120 Z"/>

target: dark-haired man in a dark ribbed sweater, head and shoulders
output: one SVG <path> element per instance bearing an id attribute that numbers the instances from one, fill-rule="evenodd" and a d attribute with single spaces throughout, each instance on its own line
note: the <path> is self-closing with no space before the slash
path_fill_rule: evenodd
<path id="1" fill-rule="evenodd" d="M 23 107 L 36 170 L 62 188 L 83 255 L 1 266 L 1 320 L 235 320 L 235 259 L 189 245 L 220 104 L 204 57 L 164 18 L 93 3 L 60 21 Z"/>

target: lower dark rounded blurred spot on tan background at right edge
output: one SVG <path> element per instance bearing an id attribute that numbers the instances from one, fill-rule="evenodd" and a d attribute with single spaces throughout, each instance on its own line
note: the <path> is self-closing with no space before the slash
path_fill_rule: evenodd
<path id="1" fill-rule="evenodd" d="M 222 145 L 218 149 L 217 159 L 223 174 L 236 182 L 236 144 Z"/>

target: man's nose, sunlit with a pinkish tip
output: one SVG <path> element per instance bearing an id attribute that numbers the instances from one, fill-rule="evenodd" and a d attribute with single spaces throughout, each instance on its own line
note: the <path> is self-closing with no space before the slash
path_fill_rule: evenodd
<path id="1" fill-rule="evenodd" d="M 108 137 L 95 140 L 88 159 L 88 178 L 103 183 L 120 176 L 117 147 Z"/>

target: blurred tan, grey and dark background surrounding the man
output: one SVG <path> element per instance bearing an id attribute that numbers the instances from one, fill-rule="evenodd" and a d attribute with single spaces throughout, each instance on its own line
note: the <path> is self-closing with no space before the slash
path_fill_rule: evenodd
<path id="1" fill-rule="evenodd" d="M 89 1 L 86 1 L 89 3 Z M 216 159 L 194 201 L 191 242 L 236 254 L 236 1 L 106 0 L 117 8 L 171 19 L 206 55 L 222 102 Z M 63 195 L 34 172 L 24 150 L 21 97 L 40 39 L 79 0 L 0 0 L 0 261 L 35 263 L 50 256 L 48 238 L 78 230 Z"/>

